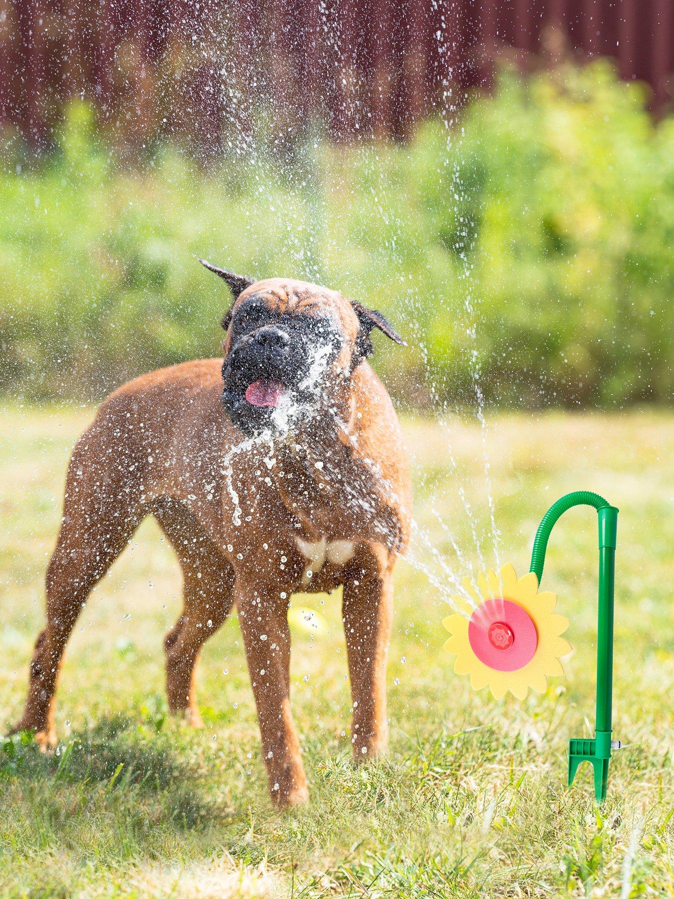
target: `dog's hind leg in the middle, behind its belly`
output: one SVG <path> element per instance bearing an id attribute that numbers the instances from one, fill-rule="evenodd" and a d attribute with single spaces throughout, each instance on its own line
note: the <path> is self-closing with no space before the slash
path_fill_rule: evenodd
<path id="1" fill-rule="evenodd" d="M 162 503 L 155 518 L 182 568 L 181 617 L 164 638 L 169 710 L 183 712 L 193 726 L 201 717 L 196 698 L 196 669 L 201 646 L 215 634 L 232 609 L 234 572 L 189 509 L 177 501 Z"/>

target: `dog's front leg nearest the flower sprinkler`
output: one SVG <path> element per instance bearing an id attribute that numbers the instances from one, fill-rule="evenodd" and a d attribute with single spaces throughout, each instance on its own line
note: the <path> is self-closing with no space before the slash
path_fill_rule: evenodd
<path id="1" fill-rule="evenodd" d="M 351 743 L 356 761 L 386 750 L 386 661 L 393 616 L 390 571 L 344 584 L 342 606 L 353 700 Z"/>

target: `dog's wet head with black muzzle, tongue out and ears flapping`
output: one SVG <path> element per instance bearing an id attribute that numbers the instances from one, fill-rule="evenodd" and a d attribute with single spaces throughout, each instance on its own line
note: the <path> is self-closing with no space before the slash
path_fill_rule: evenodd
<path id="1" fill-rule="evenodd" d="M 234 305 L 226 329 L 223 405 L 246 436 L 288 432 L 336 401 L 372 353 L 378 328 L 404 345 L 380 312 L 306 281 L 253 280 L 200 260 L 226 281 Z"/>

